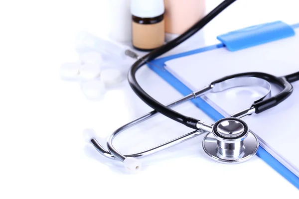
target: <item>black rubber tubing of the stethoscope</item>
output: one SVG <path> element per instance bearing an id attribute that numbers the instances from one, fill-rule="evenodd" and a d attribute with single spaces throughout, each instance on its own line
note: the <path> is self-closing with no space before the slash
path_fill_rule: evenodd
<path id="1" fill-rule="evenodd" d="M 191 37 L 193 34 L 195 34 L 197 31 L 199 31 L 201 28 L 203 28 L 209 21 L 211 21 L 215 16 L 217 16 L 221 11 L 223 11 L 226 7 L 228 7 L 230 4 L 232 4 L 236 0 L 224 0 L 222 3 L 220 3 L 216 8 L 214 8 L 210 13 L 208 13 L 205 17 L 203 17 L 201 20 L 199 20 L 196 24 L 194 24 L 191 28 L 189 28 L 186 32 L 181 34 L 176 39 L 170 41 L 169 43 L 151 51 L 144 57 L 137 60 L 131 67 L 129 74 L 128 74 L 128 80 L 131 88 L 136 93 L 136 95 L 142 99 L 145 103 L 147 103 L 150 107 L 152 107 L 154 110 L 160 112 L 161 114 L 179 122 L 182 123 L 190 128 L 197 129 L 196 123 L 200 121 L 199 119 L 185 116 L 179 112 L 176 112 L 167 106 L 159 103 L 157 100 L 154 100 L 152 97 L 149 96 L 138 84 L 136 80 L 136 72 L 147 62 L 155 59 L 156 57 L 164 54 L 165 52 L 171 50 L 172 48 L 176 47 L 189 37 Z M 287 99 L 293 92 L 293 86 L 291 85 L 292 82 L 295 82 L 299 80 L 299 72 L 284 76 L 284 77 L 276 77 L 270 74 L 266 73 L 259 73 L 259 72 L 250 72 L 250 73 L 241 73 L 241 74 L 235 74 L 226 76 L 224 78 L 221 78 L 219 80 L 216 80 L 212 82 L 211 84 L 215 84 L 217 82 L 222 82 L 227 79 L 235 78 L 235 77 L 241 77 L 241 76 L 247 76 L 247 77 L 257 77 L 267 80 L 268 82 L 274 83 L 279 85 L 283 91 L 277 94 L 276 96 L 269 98 L 267 100 L 257 101 L 254 102 L 252 106 L 255 107 L 255 112 L 260 113 L 264 110 L 267 110 L 271 107 L 276 106 L 283 100 Z"/>

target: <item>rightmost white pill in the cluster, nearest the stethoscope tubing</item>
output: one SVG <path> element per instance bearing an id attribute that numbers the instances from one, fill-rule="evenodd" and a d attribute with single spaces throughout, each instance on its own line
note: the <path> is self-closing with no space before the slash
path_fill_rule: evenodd
<path id="1" fill-rule="evenodd" d="M 101 72 L 101 80 L 107 86 L 116 85 L 124 80 L 122 72 L 118 69 L 105 69 Z"/>

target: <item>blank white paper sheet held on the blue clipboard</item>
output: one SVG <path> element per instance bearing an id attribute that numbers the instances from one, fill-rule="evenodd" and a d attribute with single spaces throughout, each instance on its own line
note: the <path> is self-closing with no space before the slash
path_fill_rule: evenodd
<path id="1" fill-rule="evenodd" d="M 236 73 L 265 72 L 284 76 L 299 71 L 299 28 L 294 37 L 236 52 L 220 48 L 173 59 L 165 64 L 168 71 L 194 91 Z M 299 82 L 293 86 L 294 92 L 287 100 L 265 112 L 246 117 L 244 121 L 262 142 L 266 142 L 265 149 L 299 177 Z M 272 94 L 278 91 L 273 86 Z M 250 107 L 262 95 L 261 89 L 236 88 L 206 97 L 215 103 L 215 107 L 233 114 Z"/>

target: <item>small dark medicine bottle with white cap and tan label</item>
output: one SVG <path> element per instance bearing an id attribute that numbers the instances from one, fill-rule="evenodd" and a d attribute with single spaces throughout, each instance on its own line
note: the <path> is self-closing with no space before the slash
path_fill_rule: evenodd
<path id="1" fill-rule="evenodd" d="M 163 0 L 131 0 L 131 14 L 134 48 L 150 51 L 164 44 Z"/>

